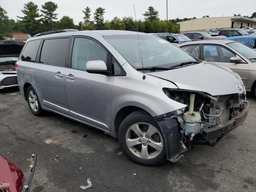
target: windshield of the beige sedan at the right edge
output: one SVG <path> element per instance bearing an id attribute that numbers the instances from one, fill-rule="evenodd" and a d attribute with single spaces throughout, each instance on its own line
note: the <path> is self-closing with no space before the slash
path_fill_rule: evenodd
<path id="1" fill-rule="evenodd" d="M 251 49 L 250 47 L 238 42 L 228 43 L 227 46 L 230 46 L 251 62 L 256 62 L 256 51 Z"/>

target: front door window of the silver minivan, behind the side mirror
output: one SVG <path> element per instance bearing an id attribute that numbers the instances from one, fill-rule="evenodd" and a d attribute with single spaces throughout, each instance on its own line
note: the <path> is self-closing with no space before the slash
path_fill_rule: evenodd
<path id="1" fill-rule="evenodd" d="M 71 68 L 85 70 L 86 63 L 91 60 L 102 60 L 107 63 L 106 50 L 91 39 L 75 38 Z"/>

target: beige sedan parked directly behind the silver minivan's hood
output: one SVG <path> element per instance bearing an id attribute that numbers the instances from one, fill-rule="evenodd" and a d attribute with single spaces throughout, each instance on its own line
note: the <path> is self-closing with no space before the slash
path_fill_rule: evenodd
<path id="1" fill-rule="evenodd" d="M 256 95 L 255 50 L 231 40 L 192 41 L 178 46 L 200 60 L 230 68 L 240 75 L 246 91 Z"/>

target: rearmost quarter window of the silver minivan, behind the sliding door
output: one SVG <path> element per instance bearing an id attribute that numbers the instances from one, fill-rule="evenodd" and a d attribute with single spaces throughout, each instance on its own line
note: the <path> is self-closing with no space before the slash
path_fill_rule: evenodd
<path id="1" fill-rule="evenodd" d="M 41 39 L 29 41 L 22 52 L 21 60 L 35 62 L 40 42 Z"/>

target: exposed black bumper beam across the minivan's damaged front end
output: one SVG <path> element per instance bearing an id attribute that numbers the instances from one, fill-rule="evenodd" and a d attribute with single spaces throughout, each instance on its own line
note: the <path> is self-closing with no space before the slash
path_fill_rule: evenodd
<path id="1" fill-rule="evenodd" d="M 220 138 L 225 134 L 227 134 L 228 132 L 234 130 L 246 120 L 246 117 L 248 115 L 248 110 L 249 110 L 249 103 L 244 102 L 244 109 L 237 116 L 235 116 L 234 118 L 232 118 L 231 120 L 223 124 L 217 125 L 207 130 L 203 130 L 202 140 L 210 141 L 212 139 Z"/>

